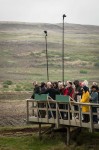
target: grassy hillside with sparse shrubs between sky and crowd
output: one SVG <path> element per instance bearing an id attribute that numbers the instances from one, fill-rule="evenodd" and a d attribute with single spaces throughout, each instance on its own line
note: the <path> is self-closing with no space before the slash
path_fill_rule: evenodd
<path id="1" fill-rule="evenodd" d="M 62 24 L 0 22 L 0 82 L 46 81 L 45 35 L 49 76 L 62 80 Z M 65 80 L 99 80 L 99 26 L 65 24 Z"/>

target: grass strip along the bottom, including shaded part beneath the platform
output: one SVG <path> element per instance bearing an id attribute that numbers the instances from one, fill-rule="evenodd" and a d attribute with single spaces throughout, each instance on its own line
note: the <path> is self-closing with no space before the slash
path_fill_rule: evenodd
<path id="1" fill-rule="evenodd" d="M 2 132 L 5 130 L 3 128 Z M 99 133 L 89 133 L 87 129 L 82 129 L 78 135 L 71 136 L 70 146 L 66 146 L 65 142 L 66 133 L 63 132 L 43 135 L 41 140 L 38 133 L 27 136 L 0 136 L 0 150 L 98 150 Z"/>

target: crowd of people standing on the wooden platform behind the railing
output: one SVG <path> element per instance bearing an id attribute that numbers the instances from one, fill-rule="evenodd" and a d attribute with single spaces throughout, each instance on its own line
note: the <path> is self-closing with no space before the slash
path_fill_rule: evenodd
<path id="1" fill-rule="evenodd" d="M 35 99 L 35 94 L 48 94 L 53 100 L 56 99 L 56 95 L 68 95 L 75 102 L 81 103 L 99 103 L 99 87 L 96 82 L 93 82 L 92 85 L 88 86 L 88 81 L 84 80 L 80 82 L 75 80 L 74 82 L 66 81 L 65 83 L 58 82 L 41 82 L 40 84 L 37 81 L 33 82 L 34 91 L 31 98 Z M 51 107 L 55 107 L 52 105 Z M 60 105 L 61 108 L 64 108 L 64 105 Z M 67 107 L 65 107 L 68 109 Z M 77 105 L 74 106 L 74 110 L 78 111 L 79 108 Z M 89 112 L 90 108 L 87 105 L 82 106 L 82 112 Z M 97 113 L 97 108 L 92 107 L 92 112 Z M 66 114 L 65 114 L 66 116 Z M 68 115 L 67 115 L 68 116 Z M 62 114 L 64 117 L 64 114 Z M 71 115 L 70 115 L 71 117 Z M 79 118 L 78 114 L 75 114 L 76 118 Z M 68 119 L 65 118 L 65 119 Z M 83 122 L 89 122 L 89 114 L 83 114 Z M 93 115 L 93 122 L 98 123 L 97 115 Z"/>

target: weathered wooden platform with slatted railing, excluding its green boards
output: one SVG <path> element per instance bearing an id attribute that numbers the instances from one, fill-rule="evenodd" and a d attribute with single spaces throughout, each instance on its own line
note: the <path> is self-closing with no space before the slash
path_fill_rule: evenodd
<path id="1" fill-rule="evenodd" d="M 51 105 L 54 104 L 55 108 L 52 108 Z M 68 109 L 60 109 L 59 105 L 67 105 Z M 79 111 L 74 110 L 74 105 L 77 105 L 79 107 Z M 90 111 L 86 114 L 89 114 L 90 121 L 88 123 L 82 122 L 82 116 L 84 113 L 81 111 L 81 107 L 83 105 L 88 105 L 90 107 Z M 66 125 L 66 126 L 75 126 L 75 127 L 84 127 L 89 128 L 92 132 L 94 129 L 99 129 L 99 124 L 93 123 L 93 115 L 99 116 L 99 112 L 92 113 L 92 107 L 99 108 L 99 104 L 93 104 L 93 103 L 75 103 L 72 104 L 70 102 L 57 102 L 57 101 L 39 101 L 34 99 L 27 99 L 27 122 L 35 122 L 35 123 L 45 123 L 45 124 L 55 124 L 58 128 L 60 125 Z M 52 114 L 52 117 L 49 118 L 48 114 Z M 68 120 L 65 120 L 62 118 L 61 113 L 68 113 Z M 56 114 L 56 116 L 53 116 L 53 113 Z M 70 113 L 72 114 L 72 119 L 70 118 Z M 79 119 L 76 119 L 75 114 L 78 114 Z"/>

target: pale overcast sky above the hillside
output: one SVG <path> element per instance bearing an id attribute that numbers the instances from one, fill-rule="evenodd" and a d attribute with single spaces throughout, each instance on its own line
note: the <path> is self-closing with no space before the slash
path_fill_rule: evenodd
<path id="1" fill-rule="evenodd" d="M 99 0 L 0 0 L 0 21 L 99 25 Z"/>

